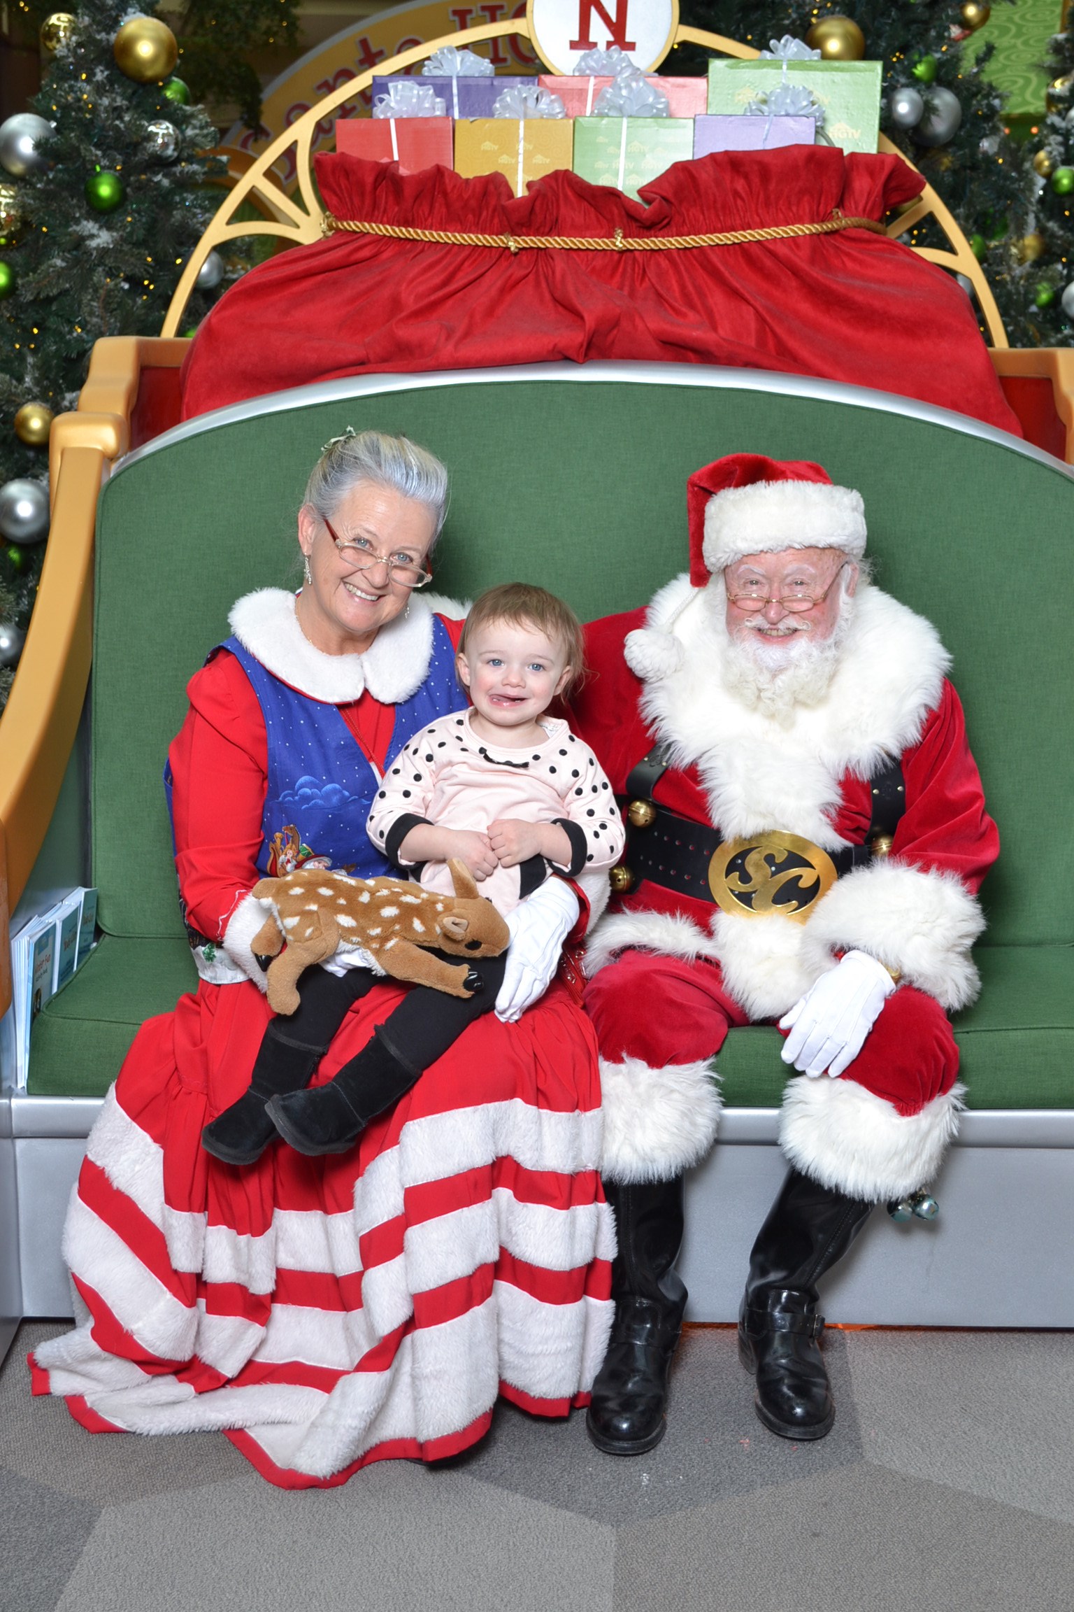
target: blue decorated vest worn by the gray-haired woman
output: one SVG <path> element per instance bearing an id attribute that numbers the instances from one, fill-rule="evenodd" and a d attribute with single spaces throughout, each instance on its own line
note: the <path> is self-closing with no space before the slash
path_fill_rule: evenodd
<path id="1" fill-rule="evenodd" d="M 238 638 L 227 638 L 219 648 L 229 650 L 242 666 L 264 717 L 269 772 L 258 853 L 261 874 L 274 879 L 301 866 L 340 867 L 357 879 L 393 872 L 366 833 L 380 779 L 338 708 L 280 682 Z M 388 753 L 396 754 L 436 717 L 464 708 L 456 651 L 443 621 L 433 616 L 428 672 L 420 688 L 396 704 Z M 171 814 L 171 764 L 164 769 L 164 791 Z M 245 978 L 222 949 L 190 924 L 187 935 L 201 978 L 213 983 Z"/>

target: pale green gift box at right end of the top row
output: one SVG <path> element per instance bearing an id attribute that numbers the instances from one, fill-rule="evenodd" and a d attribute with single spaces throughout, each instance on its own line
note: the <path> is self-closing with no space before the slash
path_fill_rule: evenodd
<path id="1" fill-rule="evenodd" d="M 786 77 L 784 77 L 786 66 Z M 881 61 L 726 61 L 708 63 L 708 111 L 742 113 L 781 84 L 808 90 L 824 108 L 820 145 L 874 152 L 881 131 Z M 773 108 L 773 111 L 784 108 Z M 787 111 L 797 108 L 786 108 Z"/>

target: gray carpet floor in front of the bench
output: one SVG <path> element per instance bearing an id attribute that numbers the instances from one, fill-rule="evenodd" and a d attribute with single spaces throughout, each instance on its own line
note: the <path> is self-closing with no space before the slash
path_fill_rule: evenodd
<path id="1" fill-rule="evenodd" d="M 820 1444 L 688 1332 L 670 1430 L 601 1456 L 501 1406 L 470 1454 L 285 1493 L 219 1435 L 90 1436 L 0 1370 L 3 1612 L 1072 1612 L 1074 1338 L 829 1332 Z"/>

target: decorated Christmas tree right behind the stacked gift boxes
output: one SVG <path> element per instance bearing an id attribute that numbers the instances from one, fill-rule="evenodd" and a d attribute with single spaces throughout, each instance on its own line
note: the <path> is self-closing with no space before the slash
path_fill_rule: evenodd
<path id="1" fill-rule="evenodd" d="M 989 15 L 981 0 L 855 0 L 845 11 L 816 0 L 683 0 L 684 23 L 758 48 L 791 34 L 832 61 L 884 63 L 881 131 L 953 213 L 984 264 L 1011 345 L 1022 347 L 1040 340 L 1035 287 L 1043 266 L 1035 261 L 1026 156 L 1003 131 L 1003 97 L 989 81 L 992 47 L 973 63 L 961 50 Z M 1072 131 L 1064 132 L 1069 140 Z M 934 222 L 902 239 L 947 245 Z M 1069 339 L 1055 321 L 1050 340 Z"/>

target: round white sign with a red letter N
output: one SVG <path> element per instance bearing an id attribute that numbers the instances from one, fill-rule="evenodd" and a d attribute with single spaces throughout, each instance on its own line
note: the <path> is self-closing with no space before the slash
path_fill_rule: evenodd
<path id="1" fill-rule="evenodd" d="M 528 0 L 530 39 L 552 73 L 573 73 L 588 50 L 618 45 L 639 73 L 660 66 L 675 44 L 678 0 Z"/>

